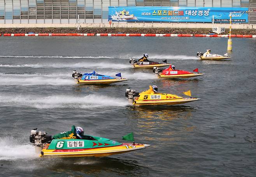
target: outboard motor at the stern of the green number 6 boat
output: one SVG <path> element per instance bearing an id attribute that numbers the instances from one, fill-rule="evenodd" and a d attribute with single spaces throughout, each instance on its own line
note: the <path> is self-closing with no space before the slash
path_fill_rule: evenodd
<path id="1" fill-rule="evenodd" d="M 38 131 L 37 128 L 32 129 L 29 137 L 30 143 L 34 143 L 36 151 L 41 152 L 44 143 L 50 143 L 51 135 L 47 135 L 45 131 Z"/>

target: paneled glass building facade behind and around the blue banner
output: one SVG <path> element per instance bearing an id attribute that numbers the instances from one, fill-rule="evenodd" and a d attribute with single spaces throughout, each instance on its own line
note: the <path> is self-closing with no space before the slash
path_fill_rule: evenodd
<path id="1" fill-rule="evenodd" d="M 0 0 L 0 24 L 105 23 L 109 6 L 248 7 L 256 0 Z M 256 12 L 249 13 L 256 24 Z"/>

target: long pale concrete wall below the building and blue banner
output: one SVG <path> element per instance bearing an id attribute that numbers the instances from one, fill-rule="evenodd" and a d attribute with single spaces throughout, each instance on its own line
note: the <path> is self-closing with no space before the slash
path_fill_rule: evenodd
<path id="1" fill-rule="evenodd" d="M 81 23 L 80 27 L 110 27 L 109 23 Z M 214 24 L 215 27 L 229 28 L 229 24 Z M 0 28 L 35 28 L 35 27 L 77 27 L 75 23 L 42 23 L 42 24 L 0 24 Z M 111 27 L 137 27 L 137 28 L 212 28 L 212 24 L 195 23 L 119 23 L 112 22 Z M 232 24 L 232 29 L 256 29 L 256 24 Z"/>

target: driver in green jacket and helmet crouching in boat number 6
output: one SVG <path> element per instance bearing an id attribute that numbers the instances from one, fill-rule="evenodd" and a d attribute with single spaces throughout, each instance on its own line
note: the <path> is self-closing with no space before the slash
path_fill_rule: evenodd
<path id="1" fill-rule="evenodd" d="M 71 131 L 61 132 L 53 136 L 53 139 L 84 139 L 84 129 L 72 125 Z"/>

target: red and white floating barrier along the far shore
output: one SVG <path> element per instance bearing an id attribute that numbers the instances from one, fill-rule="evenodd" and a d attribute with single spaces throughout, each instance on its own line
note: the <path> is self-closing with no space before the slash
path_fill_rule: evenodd
<path id="1" fill-rule="evenodd" d="M 2 34 L 0 34 L 1 36 Z M 4 36 L 159 36 L 159 37 L 218 37 L 228 38 L 229 34 L 141 34 L 141 33 L 5 33 Z M 231 34 L 231 38 L 256 38 L 256 35 Z"/>

